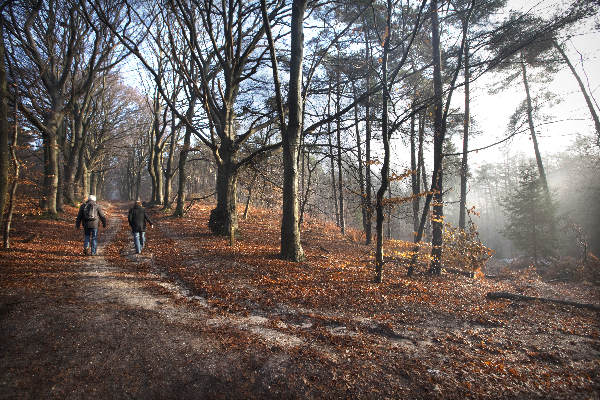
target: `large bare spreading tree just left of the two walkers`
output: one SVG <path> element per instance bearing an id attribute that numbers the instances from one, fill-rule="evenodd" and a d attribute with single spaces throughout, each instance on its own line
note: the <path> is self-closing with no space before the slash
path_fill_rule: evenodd
<path id="1" fill-rule="evenodd" d="M 89 24 L 79 2 L 37 0 L 11 2 L 7 9 L 10 60 L 22 94 L 20 108 L 42 134 L 43 194 L 40 205 L 57 213 L 59 135 L 69 100 L 89 88 L 97 71 L 105 70 L 115 43 L 105 29 Z M 113 12 L 113 23 L 120 14 Z M 74 75 L 74 71 L 80 73 Z M 70 79 L 77 77 L 76 80 Z M 74 93 L 71 96 L 70 93 Z"/>

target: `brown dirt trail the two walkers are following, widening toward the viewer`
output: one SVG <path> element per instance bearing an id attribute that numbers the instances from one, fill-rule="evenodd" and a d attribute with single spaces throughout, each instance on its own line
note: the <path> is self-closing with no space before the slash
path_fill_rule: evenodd
<path id="1" fill-rule="evenodd" d="M 207 314 L 176 304 L 181 289 L 160 274 L 109 263 L 104 248 L 125 225 L 113 217 L 109 227 L 97 256 L 54 277 L 60 298 L 13 294 L 5 302 L 0 398 L 242 396 L 248 388 L 234 382 L 244 355 L 220 344 L 237 333 L 207 329 Z M 163 293 L 151 290 L 157 285 Z"/>

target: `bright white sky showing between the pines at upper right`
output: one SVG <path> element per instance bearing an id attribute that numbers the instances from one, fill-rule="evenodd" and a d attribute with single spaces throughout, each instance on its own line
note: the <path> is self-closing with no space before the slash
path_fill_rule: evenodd
<path id="1" fill-rule="evenodd" d="M 509 7 L 519 11 L 531 11 L 541 17 L 548 17 L 564 4 L 558 0 L 512 0 Z M 578 26 L 571 32 L 572 39 L 566 43 L 567 56 L 575 65 L 580 77 L 589 84 L 588 93 L 600 103 L 600 33 L 594 29 L 593 23 Z M 583 64 L 581 63 L 581 57 Z M 531 71 L 534 72 L 534 71 Z M 587 77 L 587 78 L 586 78 Z M 490 94 L 489 88 L 498 81 L 494 74 L 488 74 L 472 85 L 473 101 L 471 115 L 481 132 L 470 141 L 470 148 L 483 147 L 506 137 L 509 133 L 507 125 L 511 114 L 525 98 L 523 83 L 515 81 L 512 87 L 500 93 Z M 578 135 L 593 135 L 594 126 L 586 102 L 579 90 L 577 81 L 565 65 L 555 74 L 549 84 L 531 83 L 532 94 L 547 89 L 559 99 L 558 104 L 546 106 L 543 113 L 547 115 L 549 124 L 536 128 L 542 155 L 556 154 L 564 151 Z M 456 96 L 460 99 L 461 95 Z M 461 107 L 462 108 L 462 107 Z M 541 122 L 541 121 L 540 121 Z M 457 135 L 458 136 L 458 135 Z M 455 138 L 459 145 L 461 138 Z M 470 154 L 472 166 L 486 162 L 500 162 L 517 153 L 533 157 L 533 144 L 529 132 L 523 132 L 503 145 L 495 146 Z"/>

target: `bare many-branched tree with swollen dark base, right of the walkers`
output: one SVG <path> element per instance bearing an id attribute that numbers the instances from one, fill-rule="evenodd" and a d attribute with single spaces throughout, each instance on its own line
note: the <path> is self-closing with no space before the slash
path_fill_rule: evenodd
<path id="1" fill-rule="evenodd" d="M 279 142 L 269 142 L 261 148 L 247 146 L 255 133 L 272 122 L 272 116 L 264 108 L 256 108 L 258 101 L 247 98 L 240 104 L 242 95 L 250 96 L 250 88 L 255 97 L 253 100 L 261 93 L 253 81 L 267 52 L 259 46 L 265 32 L 260 3 L 169 0 L 162 8 L 144 3 L 146 7 L 142 11 L 132 2 L 123 0 L 123 3 L 129 15 L 136 16 L 135 23 L 130 25 L 137 30 L 110 24 L 106 17 L 108 11 L 102 7 L 96 6 L 95 12 L 155 78 L 158 71 L 139 46 L 146 34 L 152 34 L 150 24 L 153 21 L 165 21 L 168 45 L 165 45 L 164 53 L 168 54 L 182 84 L 195 93 L 204 111 L 202 123 L 188 120 L 185 112 L 173 104 L 162 83 L 158 91 L 167 106 L 213 154 L 217 166 L 217 204 L 211 211 L 210 229 L 223 235 L 236 232 L 240 170 L 256 157 L 281 147 Z M 282 14 L 287 12 L 286 5 L 272 4 L 269 21 L 279 24 Z M 252 117 L 242 120 L 241 114 Z"/>

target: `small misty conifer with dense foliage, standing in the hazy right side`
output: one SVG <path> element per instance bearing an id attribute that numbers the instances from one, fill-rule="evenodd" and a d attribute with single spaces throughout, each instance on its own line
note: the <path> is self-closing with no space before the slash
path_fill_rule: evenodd
<path id="1" fill-rule="evenodd" d="M 503 234 L 518 250 L 537 261 L 554 254 L 556 206 L 548 198 L 544 185 L 531 162 L 520 168 L 519 182 L 503 199 L 508 222 Z"/>

